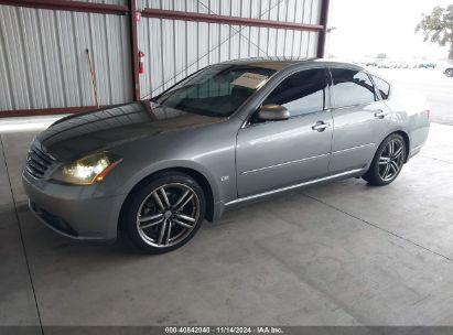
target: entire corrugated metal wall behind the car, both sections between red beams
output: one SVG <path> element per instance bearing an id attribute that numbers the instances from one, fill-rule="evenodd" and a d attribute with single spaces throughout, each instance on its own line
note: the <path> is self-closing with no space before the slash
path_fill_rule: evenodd
<path id="1" fill-rule="evenodd" d="M 316 24 L 321 1 L 137 0 L 137 6 Z M 145 18 L 138 22 L 138 39 L 145 53 L 142 97 L 209 64 L 255 56 L 309 57 L 317 45 L 316 32 Z M 86 48 L 99 104 L 132 100 L 127 17 L 0 6 L 0 112 L 94 105 Z"/>

